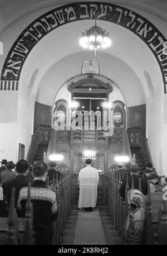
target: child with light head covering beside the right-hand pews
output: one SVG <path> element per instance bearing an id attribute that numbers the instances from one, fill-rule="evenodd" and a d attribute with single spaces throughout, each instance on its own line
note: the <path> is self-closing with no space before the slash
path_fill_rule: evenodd
<path id="1" fill-rule="evenodd" d="M 124 226 L 124 244 L 142 244 L 144 232 L 143 194 L 137 189 L 127 193 L 129 214 Z"/>

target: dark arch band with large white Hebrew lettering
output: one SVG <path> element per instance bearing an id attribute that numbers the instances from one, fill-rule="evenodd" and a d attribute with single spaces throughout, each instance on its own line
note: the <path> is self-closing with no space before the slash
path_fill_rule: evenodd
<path id="1" fill-rule="evenodd" d="M 14 42 L 4 62 L 1 73 L 1 90 L 18 90 L 21 70 L 27 56 L 35 45 L 49 32 L 73 21 L 97 20 L 116 23 L 130 30 L 150 48 L 158 61 L 164 82 L 167 84 L 167 55 L 164 42 L 167 40 L 161 32 L 143 16 L 130 9 L 110 3 L 78 2 L 55 8 L 33 21 Z"/>

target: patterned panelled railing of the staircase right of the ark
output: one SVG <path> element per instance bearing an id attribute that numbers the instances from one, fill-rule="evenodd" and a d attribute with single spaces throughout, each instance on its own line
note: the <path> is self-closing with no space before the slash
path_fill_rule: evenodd
<path id="1" fill-rule="evenodd" d="M 139 146 L 145 162 L 153 163 L 148 147 L 148 140 L 140 127 L 127 129 L 130 146 Z"/>

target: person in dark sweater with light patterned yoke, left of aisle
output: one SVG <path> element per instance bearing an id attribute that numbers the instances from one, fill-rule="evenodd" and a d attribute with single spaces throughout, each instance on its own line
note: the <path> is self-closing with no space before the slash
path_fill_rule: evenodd
<path id="1" fill-rule="evenodd" d="M 53 238 L 52 222 L 57 218 L 56 193 L 46 186 L 47 164 L 37 161 L 33 164 L 33 183 L 31 187 L 31 202 L 33 206 L 33 230 L 35 244 L 51 244 Z M 28 188 L 23 187 L 18 197 L 18 212 L 25 217 Z"/>

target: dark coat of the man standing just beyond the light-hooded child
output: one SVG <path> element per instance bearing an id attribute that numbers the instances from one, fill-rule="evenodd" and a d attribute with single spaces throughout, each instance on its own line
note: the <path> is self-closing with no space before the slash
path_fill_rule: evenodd
<path id="1" fill-rule="evenodd" d="M 139 189 L 139 178 L 141 177 L 137 174 L 132 174 L 132 176 L 134 177 L 134 188 Z M 131 189 L 130 176 L 128 177 L 128 181 L 129 181 L 129 189 Z M 125 187 L 126 187 L 126 177 L 123 179 L 119 189 L 120 195 L 124 201 L 125 201 Z M 148 181 L 146 178 L 141 178 L 141 192 L 143 193 L 143 195 L 148 195 Z"/>

